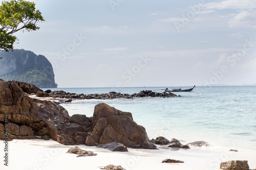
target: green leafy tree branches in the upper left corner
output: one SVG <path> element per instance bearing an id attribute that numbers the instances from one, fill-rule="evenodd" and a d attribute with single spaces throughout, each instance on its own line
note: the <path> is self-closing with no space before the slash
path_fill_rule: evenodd
<path id="1" fill-rule="evenodd" d="M 23 0 L 3 1 L 0 6 L 0 49 L 13 50 L 18 31 L 39 30 L 37 21 L 44 21 L 41 12 L 35 9 L 35 3 Z"/>

